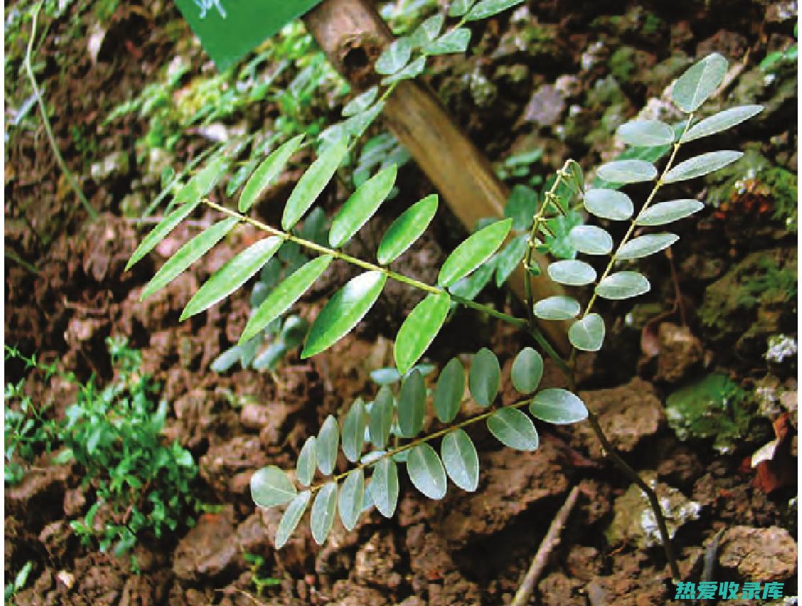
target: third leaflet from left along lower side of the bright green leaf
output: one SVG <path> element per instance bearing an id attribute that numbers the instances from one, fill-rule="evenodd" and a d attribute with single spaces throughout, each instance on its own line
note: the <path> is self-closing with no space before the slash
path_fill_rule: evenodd
<path id="1" fill-rule="evenodd" d="M 247 282 L 261 267 L 276 254 L 282 246 L 283 238 L 270 236 L 252 244 L 236 257 L 227 262 L 209 280 L 192 295 L 187 307 L 181 312 L 180 320 L 205 311 L 218 301 L 225 299 L 237 288 Z"/>

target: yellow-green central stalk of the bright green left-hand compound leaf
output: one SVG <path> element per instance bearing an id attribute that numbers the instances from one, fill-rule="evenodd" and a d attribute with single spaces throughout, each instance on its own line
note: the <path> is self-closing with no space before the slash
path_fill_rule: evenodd
<path id="1" fill-rule="evenodd" d="M 459 295 L 453 295 L 444 288 L 434 287 L 431 286 L 430 284 L 420 282 L 419 280 L 410 278 L 409 276 L 399 274 L 392 270 L 388 270 L 387 267 L 382 267 L 379 265 L 375 265 L 371 262 L 363 261 L 361 258 L 352 257 L 350 256 L 350 254 L 345 254 L 341 253 L 338 250 L 326 248 L 326 246 L 321 246 L 316 242 L 310 242 L 310 240 L 305 240 L 304 238 L 298 238 L 298 236 L 294 234 L 288 234 L 285 231 L 277 230 L 275 227 L 271 227 L 266 223 L 258 221 L 257 219 L 246 217 L 244 214 L 239 214 L 232 209 L 227 209 L 225 208 L 225 206 L 217 204 L 217 202 L 213 202 L 208 199 L 205 199 L 204 202 L 210 208 L 219 210 L 221 213 L 229 215 L 229 217 L 238 218 L 240 221 L 250 223 L 252 226 L 257 227 L 262 231 L 266 231 L 268 234 L 278 236 L 279 238 L 283 238 L 289 242 L 295 242 L 296 244 L 303 246 L 306 249 L 314 250 L 315 252 L 318 252 L 320 254 L 329 254 L 330 256 L 338 258 L 341 261 L 348 262 L 351 265 L 362 267 L 364 270 L 379 271 L 382 274 L 386 275 L 387 278 L 393 279 L 396 282 L 407 284 L 407 286 L 417 288 L 420 291 L 429 292 L 433 295 L 446 295 L 450 297 L 454 302 L 460 303 L 465 307 L 471 307 L 476 311 L 481 311 L 482 313 L 485 313 L 487 315 L 492 315 L 492 317 L 504 320 L 504 322 L 510 323 L 513 326 L 521 328 L 526 327 L 526 320 L 523 318 L 516 318 L 514 315 L 505 314 L 503 311 L 498 311 L 496 309 L 493 309 L 489 305 L 483 305 L 482 303 L 476 303 L 476 301 L 472 301 L 471 299 L 464 299 Z"/>

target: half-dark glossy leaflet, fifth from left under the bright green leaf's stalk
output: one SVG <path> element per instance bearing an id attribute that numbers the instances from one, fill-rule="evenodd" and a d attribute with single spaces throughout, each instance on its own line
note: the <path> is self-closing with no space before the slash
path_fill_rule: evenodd
<path id="1" fill-rule="evenodd" d="M 366 271 L 342 287 L 315 318 L 306 338 L 302 359 L 330 348 L 365 317 L 387 283 L 381 271 Z"/>

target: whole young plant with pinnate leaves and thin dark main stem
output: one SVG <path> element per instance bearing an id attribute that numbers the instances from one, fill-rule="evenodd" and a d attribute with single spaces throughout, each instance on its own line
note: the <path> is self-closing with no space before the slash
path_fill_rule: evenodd
<path id="1" fill-rule="evenodd" d="M 411 41 L 415 39 L 415 35 L 406 42 L 404 39 L 397 40 L 381 55 L 376 66 L 380 73 L 387 74 L 384 79 L 384 83 L 388 85 L 387 91 L 379 96 L 378 92 L 371 89 L 372 92 L 363 93 L 351 103 L 367 108 L 363 112 L 378 114 L 380 104 L 399 79 L 419 74 L 425 66 L 427 54 L 434 53 L 432 48 L 439 50 L 448 46 L 443 38 L 448 37 L 455 47 L 464 49 L 467 44 L 466 36 L 469 36 L 469 31 L 462 27 L 465 21 L 484 18 L 515 3 L 484 0 L 471 6 L 471 2 L 454 2 L 452 14 L 462 15 L 462 18 L 452 31 L 437 37 L 443 25 L 442 16 L 431 22 L 427 20 L 430 23 L 428 29 L 425 26 L 427 22 L 421 26 L 419 40 L 423 40 L 423 43 L 417 43 L 417 47 L 423 49 L 423 62 L 416 63 L 416 59 L 410 61 L 412 50 L 416 47 L 415 41 Z M 453 10 L 454 6 L 458 8 Z M 362 112 L 323 133 L 324 144 L 319 150 L 318 159 L 310 165 L 290 194 L 283 211 L 281 228 L 249 218 L 245 213 L 256 201 L 258 192 L 264 189 L 270 178 L 281 171 L 292 151 L 298 148 L 299 139 L 282 145 L 267 157 L 253 174 L 249 184 L 245 185 L 238 212 L 202 198 L 201 195 L 193 196 L 185 200 L 144 238 L 128 266 L 148 254 L 201 203 L 216 209 L 225 217 L 192 238 L 165 262 L 144 287 L 143 298 L 175 279 L 238 224 L 247 222 L 268 234 L 267 238 L 249 246 L 218 270 L 192 297 L 184 309 L 182 319 L 225 299 L 265 266 L 286 242 L 301 246 L 309 254 L 318 254 L 267 295 L 249 319 L 240 339 L 241 344 L 289 310 L 331 263 L 346 262 L 363 270 L 363 273 L 350 279 L 322 308 L 306 337 L 302 358 L 330 348 L 353 329 L 370 311 L 388 279 L 426 293 L 426 297 L 404 320 L 395 339 L 395 364 L 399 376 L 403 377 L 399 392 L 393 393 L 391 388 L 383 387 L 379 389 L 373 402 L 366 403 L 361 399 L 354 401 L 342 423 L 338 423 L 332 416 L 328 417 L 318 435 L 308 438 L 303 446 L 294 479 L 276 466 L 265 467 L 253 474 L 251 489 L 257 505 L 287 506 L 275 539 L 277 547 L 282 547 L 290 538 L 310 503 L 311 531 L 317 543 L 326 540 L 337 513 L 347 529 L 353 529 L 358 517 L 371 506 L 375 506 L 381 514 L 391 516 L 399 494 L 399 463 L 406 466 L 407 474 L 415 487 L 429 498 L 444 497 L 448 478 L 464 490 L 476 490 L 479 461 L 476 448 L 464 431 L 469 425 L 484 422 L 490 433 L 502 444 L 515 449 L 533 450 L 537 449 L 538 434 L 532 417 L 553 424 L 587 419 L 606 452 L 649 497 L 658 519 L 666 558 L 672 574 L 679 578 L 665 520 L 654 490 L 615 452 L 602 433 L 596 417 L 576 395 L 573 367 L 577 351 L 595 352 L 602 348 L 606 328 L 602 316 L 594 311 L 597 299 L 630 299 L 649 291 L 650 283 L 646 277 L 627 266 L 638 258 L 664 250 L 678 239 L 674 234 L 652 232 L 650 228 L 686 218 L 704 206 L 694 199 L 657 201 L 656 197 L 662 186 L 701 177 L 729 165 L 741 156 L 741 153 L 735 151 L 717 151 L 676 163 L 683 144 L 731 128 L 761 110 L 759 106 L 731 108 L 705 120 L 696 120 L 699 106 L 719 87 L 726 71 L 727 61 L 722 56 L 709 55 L 674 83 L 672 100 L 687 116 L 678 128 L 658 120 L 635 120 L 619 128 L 618 136 L 626 144 L 638 148 L 669 146 L 670 156 L 662 171 L 658 171 L 652 162 L 642 159 L 613 161 L 597 169 L 597 177 L 606 185 L 585 189 L 584 177 L 577 163 L 565 163 L 545 193 L 532 221 L 525 222 L 529 226 L 529 232 L 519 237 L 523 246 L 518 246 L 515 254 L 509 255 L 515 261 L 511 263 L 512 266 L 523 262 L 526 270 L 526 318 L 518 318 L 476 303 L 471 298 L 460 295 L 455 288 L 460 280 L 472 275 L 472 272 L 500 249 L 512 230 L 513 218 L 492 222 L 457 246 L 439 268 L 436 284 L 423 283 L 388 268 L 391 262 L 423 234 L 431 222 L 437 209 L 436 195 L 416 202 L 391 224 L 376 251 L 375 262 L 354 258 L 339 250 L 375 214 L 390 193 L 395 184 L 395 166 L 379 170 L 358 186 L 334 216 L 327 245 L 312 242 L 294 232 L 295 226 L 310 210 L 315 199 L 334 177 L 338 166 L 346 159 L 353 145 L 352 137 L 360 136 L 364 124 L 369 124 L 372 120 L 368 120 L 371 116 L 363 116 L 364 120 L 352 120 Z M 350 126 L 347 125 L 348 122 L 351 122 Z M 294 147 L 290 151 L 287 146 Z M 622 185 L 649 181 L 654 181 L 651 193 L 636 213 L 633 201 L 618 189 Z M 245 195 L 246 192 L 249 194 Z M 619 242 L 614 242 L 614 238 L 598 226 L 574 225 L 566 230 L 571 246 L 580 254 L 607 258 L 602 275 L 597 275 L 597 271 L 589 263 L 575 258 L 564 258 L 545 267 L 534 262 L 533 251 L 549 250 L 552 247 L 549 245 L 549 238 L 557 238 L 558 235 L 556 226 L 561 225 L 565 229 L 569 214 L 575 213 L 578 207 L 597 218 L 629 222 L 626 234 Z M 647 233 L 636 235 L 636 230 Z M 626 265 L 623 269 L 622 264 Z M 529 276 L 541 273 L 566 286 L 590 287 L 592 291 L 589 300 L 584 306 L 578 299 L 567 295 L 533 300 Z M 482 311 L 529 333 L 542 352 L 565 372 L 569 389 L 538 390 L 543 372 L 543 357 L 540 352 L 527 347 L 516 355 L 512 364 L 512 383 L 520 392 L 520 398 L 512 404 L 499 406 L 496 397 L 500 388 L 500 363 L 493 352 L 483 348 L 473 357 L 468 372 L 458 359 L 448 362 L 440 372 L 431 394 L 431 405 L 442 429 L 421 435 L 430 394 L 427 393 L 423 374 L 419 368 L 415 368 L 415 363 L 434 340 L 449 311 L 458 305 Z M 537 327 L 538 321 L 570 323 L 568 336 L 573 350 L 567 358 L 560 356 L 541 334 Z M 466 375 L 473 401 L 486 410 L 455 423 L 462 405 Z M 432 446 L 435 441 L 439 441 L 439 453 Z M 353 466 L 350 470 L 335 474 L 339 449 L 342 449 Z M 315 482 L 318 471 L 321 480 Z M 366 472 L 371 473 L 369 479 L 366 478 Z"/>

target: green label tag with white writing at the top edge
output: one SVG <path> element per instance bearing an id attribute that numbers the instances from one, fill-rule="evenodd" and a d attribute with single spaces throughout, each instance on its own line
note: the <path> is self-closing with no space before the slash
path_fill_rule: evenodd
<path id="1" fill-rule="evenodd" d="M 322 0 L 176 0 L 217 69 L 244 55 Z"/>

